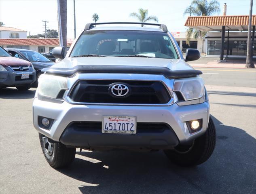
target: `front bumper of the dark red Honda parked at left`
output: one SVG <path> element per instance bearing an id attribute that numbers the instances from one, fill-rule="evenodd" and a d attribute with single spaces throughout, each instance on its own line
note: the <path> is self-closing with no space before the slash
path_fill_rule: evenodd
<path id="1" fill-rule="evenodd" d="M 10 68 L 8 68 L 10 69 Z M 21 79 L 21 74 L 30 74 L 28 79 Z M 0 86 L 1 87 L 11 87 L 23 84 L 32 84 L 36 80 L 36 71 L 30 70 L 23 72 L 15 72 L 13 70 L 1 71 L 0 72 Z"/>

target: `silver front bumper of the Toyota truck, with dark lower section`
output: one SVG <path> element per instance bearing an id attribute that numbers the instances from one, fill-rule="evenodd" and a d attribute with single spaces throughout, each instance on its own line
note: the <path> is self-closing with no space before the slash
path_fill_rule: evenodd
<path id="1" fill-rule="evenodd" d="M 179 106 L 127 106 L 127 105 L 78 105 L 53 103 L 34 99 L 34 127 L 39 133 L 74 147 L 147 147 L 168 149 L 178 143 L 186 143 L 207 129 L 209 103 Z M 38 116 L 53 119 L 51 128 L 43 129 L 38 124 Z M 103 134 L 101 130 L 83 131 L 68 127 L 72 122 L 101 122 L 102 116 L 136 116 L 137 122 L 166 123 L 172 130 L 163 133 Z M 202 128 L 189 133 L 186 121 L 202 119 Z"/>

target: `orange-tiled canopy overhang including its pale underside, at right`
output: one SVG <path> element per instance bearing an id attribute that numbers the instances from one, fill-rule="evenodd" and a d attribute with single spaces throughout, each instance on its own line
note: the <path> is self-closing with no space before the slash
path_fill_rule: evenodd
<path id="1" fill-rule="evenodd" d="M 185 26 L 201 31 L 221 31 L 222 26 L 230 31 L 247 31 L 249 15 L 222 15 L 188 17 Z M 256 25 L 256 15 L 252 16 L 252 25 Z"/>

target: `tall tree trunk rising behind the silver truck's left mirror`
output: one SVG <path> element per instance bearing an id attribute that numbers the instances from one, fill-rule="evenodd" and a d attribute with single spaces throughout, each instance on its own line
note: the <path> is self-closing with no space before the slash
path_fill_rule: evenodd
<path id="1" fill-rule="evenodd" d="M 59 1 L 58 14 L 60 13 L 60 17 L 58 17 L 59 34 L 62 35 L 63 46 L 67 48 L 67 0 L 58 0 L 58 1 Z"/>

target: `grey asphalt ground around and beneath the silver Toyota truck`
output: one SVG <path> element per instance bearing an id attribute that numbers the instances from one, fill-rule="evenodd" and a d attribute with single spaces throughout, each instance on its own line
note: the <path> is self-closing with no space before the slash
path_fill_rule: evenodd
<path id="1" fill-rule="evenodd" d="M 203 68 L 198 68 L 203 69 Z M 216 149 L 198 167 L 163 152 L 79 152 L 52 169 L 32 124 L 34 89 L 0 91 L 0 193 L 256 193 L 255 71 L 204 69 L 217 130 Z"/>

